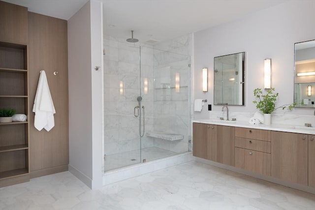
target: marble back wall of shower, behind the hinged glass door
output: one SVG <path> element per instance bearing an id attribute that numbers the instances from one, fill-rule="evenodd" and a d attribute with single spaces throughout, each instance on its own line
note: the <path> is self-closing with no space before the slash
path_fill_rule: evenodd
<path id="1" fill-rule="evenodd" d="M 113 37 L 104 38 L 104 154 L 140 149 L 139 117 L 133 115 L 140 95 L 139 45 Z M 153 130 L 153 49 L 141 49 L 141 86 L 148 78 L 143 97 L 146 129 Z M 142 138 L 142 148 L 153 147 L 153 139 Z"/>

